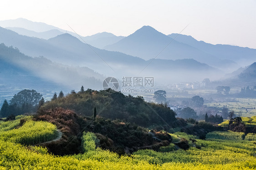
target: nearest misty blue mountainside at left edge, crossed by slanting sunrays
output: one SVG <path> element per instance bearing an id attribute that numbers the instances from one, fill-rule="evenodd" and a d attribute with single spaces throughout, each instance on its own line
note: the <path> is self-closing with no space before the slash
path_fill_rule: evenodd
<path id="1" fill-rule="evenodd" d="M 34 89 L 46 100 L 54 92 L 87 88 L 102 89 L 103 76 L 87 67 L 53 63 L 44 57 L 32 58 L 18 49 L 0 44 L 0 106 L 24 89 Z"/>

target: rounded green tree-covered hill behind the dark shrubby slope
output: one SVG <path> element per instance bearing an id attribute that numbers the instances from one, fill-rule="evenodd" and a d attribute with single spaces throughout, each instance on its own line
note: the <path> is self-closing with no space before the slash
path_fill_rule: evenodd
<path id="1" fill-rule="evenodd" d="M 71 109 L 83 116 L 92 116 L 96 107 L 97 115 L 101 117 L 124 120 L 144 127 L 162 126 L 162 129 L 168 130 L 182 125 L 175 118 L 176 113 L 167 105 L 148 103 L 142 96 L 126 96 L 111 89 L 97 91 L 81 88 L 79 92 L 72 90 L 72 93 L 65 97 L 54 95 L 41 109 L 56 107 Z"/>

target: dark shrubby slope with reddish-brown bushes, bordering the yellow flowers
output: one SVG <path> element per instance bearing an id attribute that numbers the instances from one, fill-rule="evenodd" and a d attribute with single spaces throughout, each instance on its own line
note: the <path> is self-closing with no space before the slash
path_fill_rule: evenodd
<path id="1" fill-rule="evenodd" d="M 61 119 L 60 119 L 61 117 Z M 158 150 L 160 146 L 169 145 L 172 141 L 166 132 L 157 136 L 163 141 L 154 140 L 152 135 L 143 127 L 121 120 L 106 120 L 97 116 L 82 117 L 72 110 L 55 108 L 40 110 L 34 120 L 48 121 L 57 126 L 63 133 L 57 142 L 38 144 L 45 146 L 54 155 L 70 155 L 81 153 L 82 132 L 93 132 L 97 136 L 97 147 L 116 152 L 120 155 L 138 149 Z"/>

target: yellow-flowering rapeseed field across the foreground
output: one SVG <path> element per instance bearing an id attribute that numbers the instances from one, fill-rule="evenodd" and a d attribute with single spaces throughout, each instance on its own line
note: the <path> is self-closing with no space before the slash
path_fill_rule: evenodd
<path id="1" fill-rule="evenodd" d="M 96 148 L 96 136 L 93 133 L 84 132 L 81 154 L 55 156 L 47 153 L 46 148 L 31 145 L 39 139 L 38 135 L 35 135 L 37 133 L 50 139 L 55 134 L 55 125 L 28 120 L 20 126 L 16 121 L 0 122 L 2 125 L 0 131 L 6 134 L 18 134 L 26 141 L 26 145 L 21 145 L 20 140 L 12 140 L 12 138 L 5 138 L 5 135 L 0 135 L 0 170 L 256 169 L 256 136 L 254 134 L 247 136 L 239 132 L 215 131 L 208 133 L 206 140 L 200 140 L 194 135 L 175 132 L 170 134 L 173 142 L 188 140 L 190 146 L 188 150 L 177 149 L 171 143 L 169 146 L 161 147 L 159 151 L 138 150 L 131 155 L 119 156 L 108 150 Z M 3 128 L 5 130 L 2 130 Z M 24 130 L 31 133 L 26 135 L 23 133 Z M 189 138 L 196 141 L 193 143 Z"/>

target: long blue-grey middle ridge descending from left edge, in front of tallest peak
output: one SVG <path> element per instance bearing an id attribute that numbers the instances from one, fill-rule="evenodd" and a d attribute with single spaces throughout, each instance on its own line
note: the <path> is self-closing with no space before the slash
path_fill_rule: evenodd
<path id="1" fill-rule="evenodd" d="M 0 37 L 0 43 L 12 45 L 26 55 L 44 56 L 65 65 L 86 66 L 105 76 L 111 75 L 120 80 L 123 76 L 150 76 L 155 77 L 159 84 L 170 84 L 180 81 L 201 81 L 205 77 L 215 80 L 222 74 L 220 70 L 195 60 L 143 60 L 120 52 L 101 50 L 82 43 L 70 34 L 44 40 L 0 28 Z"/>

